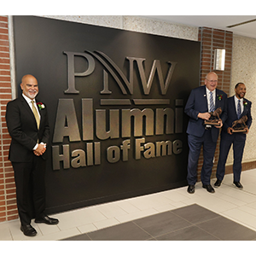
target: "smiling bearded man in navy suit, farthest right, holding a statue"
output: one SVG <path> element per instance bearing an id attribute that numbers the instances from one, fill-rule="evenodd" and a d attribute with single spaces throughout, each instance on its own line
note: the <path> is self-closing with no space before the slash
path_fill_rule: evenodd
<path id="1" fill-rule="evenodd" d="M 224 178 L 225 164 L 230 151 L 231 144 L 233 144 L 234 151 L 234 163 L 233 163 L 233 173 L 234 173 L 234 185 L 238 189 L 242 189 L 240 183 L 241 178 L 241 159 L 243 154 L 243 149 L 245 146 L 247 133 L 249 128 L 252 125 L 252 115 L 251 107 L 252 102 L 244 98 L 246 94 L 246 86 L 243 83 L 236 84 L 235 87 L 235 96 L 228 98 L 227 102 L 227 111 L 228 119 L 226 119 L 223 129 L 221 131 L 221 141 L 219 146 L 219 157 L 218 157 L 218 166 L 216 177 L 217 181 L 214 183 L 214 186 L 218 188 L 221 185 L 221 182 Z M 232 123 L 237 119 L 240 119 L 242 116 L 247 116 L 247 128 L 245 132 L 234 132 L 232 128 Z"/>

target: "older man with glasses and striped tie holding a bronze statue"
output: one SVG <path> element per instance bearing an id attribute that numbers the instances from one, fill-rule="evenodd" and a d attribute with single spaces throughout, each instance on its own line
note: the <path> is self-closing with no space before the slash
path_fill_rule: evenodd
<path id="1" fill-rule="evenodd" d="M 208 73 L 205 85 L 195 88 L 189 95 L 184 112 L 189 115 L 189 125 L 187 128 L 189 143 L 188 176 L 189 194 L 195 193 L 195 183 L 197 180 L 197 162 L 203 145 L 203 166 L 201 169 L 201 183 L 204 189 L 214 193 L 210 183 L 215 148 L 218 140 L 219 128 L 222 127 L 226 113 L 227 95 L 222 90 L 217 89 L 218 75 Z M 219 125 L 204 125 L 204 121 L 210 119 L 211 112 L 217 108 L 222 109 Z"/>

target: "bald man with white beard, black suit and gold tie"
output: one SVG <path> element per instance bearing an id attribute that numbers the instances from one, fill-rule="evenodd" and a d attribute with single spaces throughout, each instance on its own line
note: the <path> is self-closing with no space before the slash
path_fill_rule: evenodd
<path id="1" fill-rule="evenodd" d="M 20 216 L 20 230 L 25 236 L 36 236 L 31 225 L 36 223 L 58 224 L 45 212 L 44 173 L 46 146 L 49 142 L 49 121 L 44 104 L 35 100 L 38 80 L 25 75 L 20 84 L 22 96 L 8 102 L 6 122 L 12 141 L 9 160 L 15 171 L 16 199 Z"/>

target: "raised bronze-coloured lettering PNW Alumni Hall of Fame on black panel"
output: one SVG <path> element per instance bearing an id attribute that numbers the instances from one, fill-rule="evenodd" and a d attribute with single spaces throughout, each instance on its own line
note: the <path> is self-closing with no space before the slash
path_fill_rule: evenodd
<path id="1" fill-rule="evenodd" d="M 134 77 L 137 68 L 139 76 L 139 84 L 142 87 L 143 95 L 148 96 L 154 78 L 157 77 L 160 86 L 160 98 L 111 98 L 101 99 L 101 106 L 113 106 L 114 109 L 93 109 L 92 98 L 82 98 L 81 111 L 81 129 L 79 130 L 79 122 L 75 111 L 75 106 L 72 98 L 59 99 L 57 114 L 55 119 L 55 131 L 53 143 L 63 143 L 64 137 L 68 137 L 69 142 L 87 142 L 86 152 L 83 149 L 76 149 L 71 152 L 74 157 L 70 162 L 69 145 L 62 144 L 62 152 L 60 154 L 59 145 L 52 146 L 53 154 L 53 169 L 60 170 L 60 162 L 63 161 L 63 168 L 67 169 L 71 166 L 78 168 L 80 166 L 93 166 L 101 164 L 101 142 L 91 142 L 95 138 L 104 141 L 108 139 L 116 139 L 119 137 L 130 138 L 140 137 L 135 140 L 134 150 L 135 159 L 144 158 L 150 159 L 159 156 L 180 154 L 182 152 L 183 143 L 180 140 L 162 141 L 156 143 L 145 143 L 143 136 L 168 135 L 183 132 L 183 99 L 175 100 L 175 109 L 159 108 L 161 105 L 170 105 L 170 98 L 163 98 L 172 80 L 172 74 L 175 70 L 177 62 L 168 61 L 168 71 L 166 79 L 162 72 L 159 60 L 154 60 L 148 79 L 144 69 L 146 59 L 137 57 L 126 57 L 129 61 L 129 79 L 121 71 L 121 69 L 108 57 L 108 55 L 100 52 L 91 52 L 86 50 L 84 53 L 64 51 L 67 55 L 67 90 L 64 94 L 79 95 L 79 90 L 75 86 L 76 77 L 87 77 L 95 71 L 96 60 L 103 67 L 103 90 L 100 95 L 111 95 L 112 91 L 109 88 L 109 75 L 118 85 L 119 91 L 125 95 L 133 95 L 134 93 Z M 75 72 L 75 56 L 84 57 L 87 61 L 87 69 L 84 72 Z M 157 74 L 157 75 L 156 75 Z M 139 108 L 119 109 L 117 106 L 146 106 L 143 110 Z M 148 108 L 148 105 L 155 106 L 154 109 Z M 157 105 L 157 106 L 156 106 Z M 164 107 L 164 106 L 163 106 Z M 107 120 L 107 111 L 108 120 Z M 134 119 L 131 122 L 131 119 Z M 131 129 L 132 123 L 134 124 Z M 107 125 L 108 124 L 108 125 Z M 106 128 L 108 126 L 108 128 Z M 81 134 L 80 134 L 81 131 Z M 132 134 L 133 133 L 133 134 Z M 121 145 L 110 146 L 107 148 L 107 160 L 109 163 L 115 163 L 119 160 L 127 161 L 129 159 L 129 149 L 131 148 L 131 139 L 125 139 Z M 122 152 L 122 154 L 121 154 Z M 130 156 L 131 157 L 131 156 Z"/>

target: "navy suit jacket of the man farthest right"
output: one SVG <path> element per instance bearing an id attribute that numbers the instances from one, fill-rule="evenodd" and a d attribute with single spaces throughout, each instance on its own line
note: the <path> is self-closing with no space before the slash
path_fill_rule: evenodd
<path id="1" fill-rule="evenodd" d="M 246 103 L 247 102 L 247 103 Z M 252 107 L 252 102 L 248 101 L 247 99 L 243 99 L 243 112 L 241 113 L 241 116 L 247 115 L 247 126 L 250 128 L 253 122 L 253 118 L 251 115 L 251 107 Z M 228 118 L 224 122 L 223 129 L 221 131 L 221 136 L 222 137 L 230 137 L 230 136 L 236 136 L 237 139 L 246 139 L 246 134 L 242 132 L 237 132 L 236 134 L 230 135 L 227 132 L 227 129 L 232 126 L 232 123 L 237 120 L 237 114 L 236 114 L 236 106 L 235 106 L 235 98 L 234 96 L 231 96 L 227 99 L 227 113 L 228 113 Z"/>

